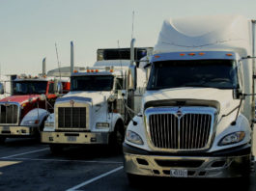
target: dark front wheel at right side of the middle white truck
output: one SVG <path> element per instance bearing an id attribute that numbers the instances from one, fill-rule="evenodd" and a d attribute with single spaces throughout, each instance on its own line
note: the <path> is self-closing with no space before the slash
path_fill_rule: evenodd
<path id="1" fill-rule="evenodd" d="M 123 123 L 117 123 L 113 132 L 109 135 L 109 147 L 114 153 L 122 152 L 125 140 L 125 128 Z"/>

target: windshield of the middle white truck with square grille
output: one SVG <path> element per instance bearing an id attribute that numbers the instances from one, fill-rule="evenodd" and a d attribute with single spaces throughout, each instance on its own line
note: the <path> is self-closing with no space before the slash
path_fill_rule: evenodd
<path id="1" fill-rule="evenodd" d="M 72 76 L 71 91 L 111 91 L 112 75 Z"/>

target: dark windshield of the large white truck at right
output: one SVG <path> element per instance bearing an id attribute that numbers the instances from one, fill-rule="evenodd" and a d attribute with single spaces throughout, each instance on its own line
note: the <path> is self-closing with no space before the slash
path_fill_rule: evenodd
<path id="1" fill-rule="evenodd" d="M 235 61 L 194 60 L 156 62 L 147 90 L 180 87 L 238 88 Z"/>

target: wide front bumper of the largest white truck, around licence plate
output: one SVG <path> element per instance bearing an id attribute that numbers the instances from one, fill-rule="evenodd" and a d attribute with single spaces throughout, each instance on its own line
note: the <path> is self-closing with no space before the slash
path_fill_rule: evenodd
<path id="1" fill-rule="evenodd" d="M 171 170 L 187 170 L 187 177 L 224 178 L 247 176 L 250 147 L 241 149 L 242 155 L 216 154 L 167 155 L 149 153 L 124 144 L 125 170 L 139 176 L 171 177 Z M 236 150 L 236 153 L 238 150 Z"/>

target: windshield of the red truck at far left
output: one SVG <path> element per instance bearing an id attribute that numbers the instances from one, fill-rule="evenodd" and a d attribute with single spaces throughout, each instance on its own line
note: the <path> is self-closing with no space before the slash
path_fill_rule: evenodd
<path id="1" fill-rule="evenodd" d="M 46 81 L 18 81 L 14 82 L 14 95 L 42 95 L 46 88 Z"/>

